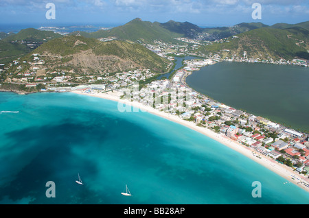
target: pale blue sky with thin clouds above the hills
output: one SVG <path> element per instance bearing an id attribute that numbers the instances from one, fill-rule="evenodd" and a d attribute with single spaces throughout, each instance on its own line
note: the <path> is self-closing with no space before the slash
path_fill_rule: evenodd
<path id="1" fill-rule="evenodd" d="M 262 19 L 253 19 L 253 3 L 262 5 Z M 47 3 L 56 5 L 56 19 L 47 20 Z M 143 21 L 188 21 L 200 26 L 242 22 L 299 23 L 309 20 L 308 0 L 0 0 L 0 23 L 122 25 Z"/>

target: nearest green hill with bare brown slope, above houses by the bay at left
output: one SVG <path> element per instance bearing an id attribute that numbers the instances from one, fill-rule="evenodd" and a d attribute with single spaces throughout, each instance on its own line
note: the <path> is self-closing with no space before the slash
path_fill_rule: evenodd
<path id="1" fill-rule="evenodd" d="M 167 71 L 170 61 L 146 47 L 122 40 L 101 42 L 84 36 L 65 36 L 44 43 L 32 53 L 38 53 L 48 70 L 63 69 L 80 74 L 101 74 L 138 68 L 154 73 Z M 25 57 L 32 60 L 32 54 Z"/>

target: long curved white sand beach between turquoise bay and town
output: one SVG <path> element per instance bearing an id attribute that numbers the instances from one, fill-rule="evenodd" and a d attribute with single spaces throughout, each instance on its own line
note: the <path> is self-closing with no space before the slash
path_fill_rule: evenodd
<path id="1" fill-rule="evenodd" d="M 236 152 L 239 152 L 240 154 L 243 154 L 244 156 L 247 156 L 254 160 L 255 162 L 258 162 L 260 165 L 263 165 L 264 167 L 267 167 L 268 169 L 271 169 L 271 171 L 274 171 L 278 175 L 281 175 L 283 178 L 288 180 L 289 182 L 293 182 L 297 186 L 301 187 L 302 189 L 309 192 L 309 188 L 307 186 L 304 186 L 304 184 L 301 184 L 301 182 L 309 183 L 309 179 L 304 176 L 300 175 L 297 171 L 293 171 L 290 169 L 290 167 L 287 167 L 286 165 L 282 165 L 279 162 L 276 162 L 270 157 L 266 157 L 255 150 L 251 149 L 250 147 L 246 147 L 244 145 L 241 145 L 240 143 L 231 140 L 227 136 L 224 136 L 222 134 L 217 134 L 213 132 L 212 130 L 209 130 L 207 128 L 198 127 L 195 123 L 190 121 L 185 121 L 181 119 L 180 117 L 168 114 L 166 112 L 161 112 L 159 110 L 155 110 L 155 108 L 151 108 L 149 106 L 144 106 L 143 104 L 136 102 L 136 101 L 128 101 L 124 99 L 120 99 L 119 96 L 122 95 L 122 93 L 118 92 L 108 92 L 108 93 L 83 93 L 80 90 L 73 90 L 71 93 L 76 93 L 80 95 L 89 95 L 93 97 L 100 97 L 103 99 L 109 99 L 112 101 L 118 101 L 126 105 L 133 106 L 135 108 L 139 108 L 142 111 L 150 112 L 152 114 L 155 114 L 159 117 L 163 117 L 165 119 L 168 119 L 170 121 L 174 121 L 176 123 L 179 123 L 181 125 L 185 125 L 187 128 L 191 128 L 192 130 L 195 130 L 197 132 L 201 132 L 205 136 L 208 136 L 210 138 L 213 138 L 214 140 L 222 143 L 223 145 L 226 145 L 230 147 L 231 149 L 236 150 Z M 253 154 L 256 154 L 256 156 L 253 156 Z M 257 157 L 257 156 L 260 156 Z M 293 179 L 292 176 L 295 178 Z"/>

